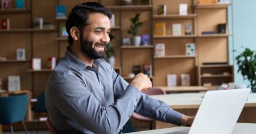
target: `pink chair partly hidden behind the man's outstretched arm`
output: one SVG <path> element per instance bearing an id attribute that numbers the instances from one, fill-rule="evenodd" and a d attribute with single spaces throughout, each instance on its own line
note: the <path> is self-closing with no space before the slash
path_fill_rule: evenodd
<path id="1" fill-rule="evenodd" d="M 159 88 L 156 88 L 156 87 L 152 87 L 151 90 L 142 91 L 142 93 L 147 94 L 147 95 L 158 95 L 158 94 L 166 94 L 166 91 L 164 91 L 162 89 L 159 89 Z M 135 112 L 133 112 L 133 118 L 136 119 L 136 120 L 139 120 L 141 122 L 150 123 L 150 130 L 153 129 L 152 124 L 155 122 L 153 119 L 146 118 L 146 117 L 144 117 L 142 115 L 139 115 Z"/>

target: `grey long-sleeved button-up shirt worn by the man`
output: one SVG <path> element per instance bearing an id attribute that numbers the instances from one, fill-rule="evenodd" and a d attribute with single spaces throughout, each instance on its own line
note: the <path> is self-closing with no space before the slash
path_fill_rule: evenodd
<path id="1" fill-rule="evenodd" d="M 59 133 L 119 133 L 134 111 L 177 125 L 182 116 L 129 85 L 104 59 L 90 67 L 68 49 L 49 76 L 46 107 Z"/>

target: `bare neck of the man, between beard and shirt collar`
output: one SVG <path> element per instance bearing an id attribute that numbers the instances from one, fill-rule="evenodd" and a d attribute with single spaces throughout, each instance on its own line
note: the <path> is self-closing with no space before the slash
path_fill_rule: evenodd
<path id="1" fill-rule="evenodd" d="M 82 62 L 84 62 L 86 65 L 92 67 L 93 65 L 93 59 L 90 58 L 88 55 L 86 55 L 85 53 L 82 53 L 81 51 L 79 51 L 78 49 L 75 49 L 74 46 L 69 46 L 69 51 L 72 53 L 72 55 L 76 56 L 77 58 L 79 58 Z"/>

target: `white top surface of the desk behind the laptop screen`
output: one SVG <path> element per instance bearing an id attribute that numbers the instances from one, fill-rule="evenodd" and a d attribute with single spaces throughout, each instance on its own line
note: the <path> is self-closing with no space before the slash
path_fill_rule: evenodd
<path id="1" fill-rule="evenodd" d="M 173 109 L 179 108 L 199 108 L 202 97 L 205 93 L 180 93 L 180 94 L 164 94 L 164 95 L 151 95 L 154 99 L 159 99 L 165 102 Z M 245 107 L 256 106 L 256 93 L 251 93 L 249 100 L 246 101 Z"/>

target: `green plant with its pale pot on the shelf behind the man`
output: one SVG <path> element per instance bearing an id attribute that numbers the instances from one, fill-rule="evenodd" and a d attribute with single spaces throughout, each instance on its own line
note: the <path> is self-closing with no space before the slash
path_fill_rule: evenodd
<path id="1" fill-rule="evenodd" d="M 137 35 L 139 32 L 139 26 L 141 26 L 143 23 L 139 22 L 139 15 L 140 14 L 136 14 L 134 18 L 130 18 L 131 26 L 130 26 L 130 30 L 127 31 L 129 34 L 133 35 L 131 39 L 133 45 L 141 44 L 141 36 L 137 36 Z"/>

